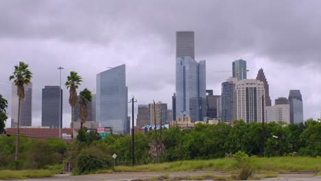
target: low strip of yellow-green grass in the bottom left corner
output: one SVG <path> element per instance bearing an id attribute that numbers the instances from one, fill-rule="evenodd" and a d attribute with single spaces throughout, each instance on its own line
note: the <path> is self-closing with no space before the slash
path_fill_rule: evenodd
<path id="1" fill-rule="evenodd" d="M 25 178 L 45 178 L 52 177 L 50 170 L 0 170 L 0 179 L 25 179 Z"/>

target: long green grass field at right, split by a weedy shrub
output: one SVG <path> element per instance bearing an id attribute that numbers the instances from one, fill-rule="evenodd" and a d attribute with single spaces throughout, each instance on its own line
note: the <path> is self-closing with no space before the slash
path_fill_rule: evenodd
<path id="1" fill-rule="evenodd" d="M 273 157 L 251 158 L 256 170 L 264 171 L 321 171 L 321 158 L 311 157 Z M 184 160 L 165 162 L 156 165 L 139 165 L 135 167 L 117 166 L 115 171 L 193 171 L 193 170 L 233 170 L 234 159 Z"/>

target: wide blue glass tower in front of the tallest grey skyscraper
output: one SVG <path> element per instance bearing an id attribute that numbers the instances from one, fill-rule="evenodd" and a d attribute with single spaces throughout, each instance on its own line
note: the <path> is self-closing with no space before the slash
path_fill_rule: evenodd
<path id="1" fill-rule="evenodd" d="M 176 59 L 176 117 L 203 121 L 206 117 L 206 61 Z"/>

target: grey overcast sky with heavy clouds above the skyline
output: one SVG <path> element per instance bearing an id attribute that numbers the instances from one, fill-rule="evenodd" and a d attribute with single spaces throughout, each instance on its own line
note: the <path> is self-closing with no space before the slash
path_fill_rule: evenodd
<path id="1" fill-rule="evenodd" d="M 58 67 L 95 89 L 96 74 L 126 64 L 137 104 L 175 92 L 175 32 L 195 32 L 195 59 L 206 60 L 206 89 L 221 94 L 233 60 L 248 78 L 263 68 L 274 104 L 300 89 L 304 118 L 321 112 L 321 1 L 0 1 L 0 94 L 11 106 L 9 76 L 19 61 L 34 73 L 33 122 L 41 125 L 41 88 L 59 85 Z M 63 126 L 71 108 L 64 88 Z M 131 115 L 131 107 L 129 107 Z M 11 107 L 8 109 L 9 116 Z M 135 110 L 136 112 L 136 110 Z M 11 117 L 11 116 L 10 116 Z M 135 115 L 136 117 L 136 115 Z M 10 118 L 7 126 L 10 126 Z"/>

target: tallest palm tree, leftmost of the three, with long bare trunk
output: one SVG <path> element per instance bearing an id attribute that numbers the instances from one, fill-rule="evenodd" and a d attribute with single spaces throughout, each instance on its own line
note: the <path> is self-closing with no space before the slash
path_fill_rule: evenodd
<path id="1" fill-rule="evenodd" d="M 16 125 L 16 154 L 14 156 L 14 160 L 18 160 L 18 152 L 19 152 L 19 134 L 20 134 L 20 110 L 21 110 L 21 100 L 25 99 L 25 84 L 30 84 L 32 79 L 32 72 L 28 69 L 29 65 L 24 62 L 19 62 L 19 66 L 14 66 L 13 75 L 9 77 L 9 80 L 14 80 L 14 85 L 17 87 L 16 94 L 19 97 L 18 104 L 18 123 Z"/>

